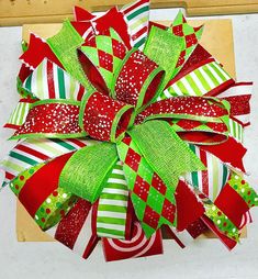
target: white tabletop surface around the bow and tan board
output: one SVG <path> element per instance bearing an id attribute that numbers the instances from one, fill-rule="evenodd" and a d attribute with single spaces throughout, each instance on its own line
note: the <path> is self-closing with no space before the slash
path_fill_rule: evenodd
<path id="1" fill-rule="evenodd" d="M 173 10 L 152 11 L 153 20 L 172 20 Z M 221 16 L 222 18 L 222 16 Z M 224 16 L 233 19 L 238 80 L 258 83 L 258 15 Z M 15 77 L 19 70 L 21 27 L 0 29 L 0 125 L 8 120 L 18 101 Z M 220 44 L 220 42 L 218 42 Z M 246 131 L 246 169 L 258 182 L 258 94 L 251 100 L 253 125 Z M 0 157 L 13 143 L 5 140 L 10 131 L 0 129 Z M 257 158 L 257 159 L 256 159 Z M 105 264 L 101 247 L 86 261 L 58 243 L 18 243 L 15 237 L 15 198 L 9 189 L 0 193 L 0 278 L 88 278 L 88 279 L 250 279 L 258 278 L 258 209 L 248 238 L 228 253 L 218 239 L 195 241 L 181 249 L 164 242 L 165 255 Z"/>

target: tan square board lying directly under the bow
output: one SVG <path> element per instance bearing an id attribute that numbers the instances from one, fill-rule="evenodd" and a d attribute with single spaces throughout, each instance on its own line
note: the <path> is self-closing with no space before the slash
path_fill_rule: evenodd
<path id="1" fill-rule="evenodd" d="M 189 21 L 191 25 L 199 26 L 205 24 L 201 44 L 211 52 L 214 57 L 223 63 L 229 75 L 235 77 L 235 57 L 233 44 L 233 29 L 231 20 L 210 20 L 210 21 Z M 170 25 L 168 21 L 160 24 Z M 27 24 L 23 26 L 23 40 L 29 41 L 30 33 L 47 38 L 58 32 L 60 24 Z M 18 202 L 16 209 L 16 236 L 19 242 L 53 242 L 53 238 L 43 233 L 25 211 L 23 205 Z M 246 236 L 246 232 L 243 237 Z M 207 233 L 203 237 L 214 237 Z"/>

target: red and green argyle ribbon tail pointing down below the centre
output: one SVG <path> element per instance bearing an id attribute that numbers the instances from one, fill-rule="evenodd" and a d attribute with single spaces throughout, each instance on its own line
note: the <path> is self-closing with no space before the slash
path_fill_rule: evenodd
<path id="1" fill-rule="evenodd" d="M 175 225 L 173 192 L 152 169 L 131 137 L 117 144 L 135 214 L 149 238 L 162 225 Z"/>

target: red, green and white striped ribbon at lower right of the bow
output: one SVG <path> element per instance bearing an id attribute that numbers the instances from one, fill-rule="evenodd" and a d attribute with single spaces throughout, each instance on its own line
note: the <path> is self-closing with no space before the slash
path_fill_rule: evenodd
<path id="1" fill-rule="evenodd" d="M 217 157 L 190 144 L 191 150 L 201 159 L 206 170 L 189 172 L 184 176 L 187 181 L 203 192 L 211 201 L 220 194 L 227 182 L 229 169 Z"/>

